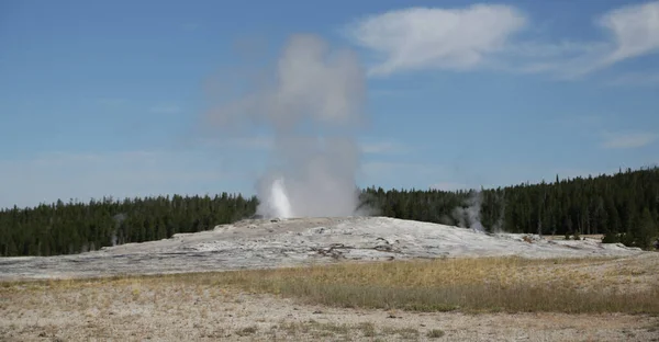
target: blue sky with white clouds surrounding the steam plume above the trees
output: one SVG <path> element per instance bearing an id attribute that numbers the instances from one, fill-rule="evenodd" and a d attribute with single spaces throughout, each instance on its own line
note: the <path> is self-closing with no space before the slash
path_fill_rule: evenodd
<path id="1" fill-rule="evenodd" d="M 657 1 L 2 1 L 0 207 L 254 194 L 269 141 L 206 129 L 209 89 L 300 33 L 368 72 L 361 186 L 659 162 Z"/>

